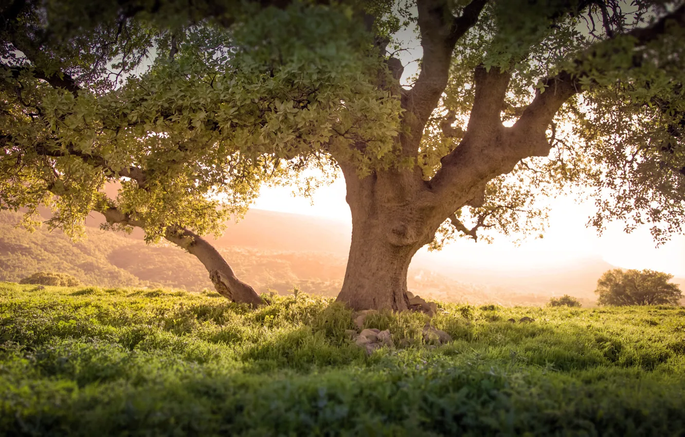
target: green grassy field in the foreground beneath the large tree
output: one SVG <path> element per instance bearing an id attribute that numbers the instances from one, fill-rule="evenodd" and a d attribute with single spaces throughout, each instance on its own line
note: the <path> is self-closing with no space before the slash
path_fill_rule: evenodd
<path id="1" fill-rule="evenodd" d="M 0 435 L 685 435 L 685 310 L 443 305 L 0 282 Z M 510 323 L 523 316 L 530 323 Z M 401 345 L 401 347 L 399 347 Z"/>

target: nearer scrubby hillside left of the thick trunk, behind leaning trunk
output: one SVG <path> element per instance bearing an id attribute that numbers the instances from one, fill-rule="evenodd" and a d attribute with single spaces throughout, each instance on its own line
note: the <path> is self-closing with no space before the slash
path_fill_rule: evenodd
<path id="1" fill-rule="evenodd" d="M 145 245 L 138 236 L 87 229 L 88 238 L 71 242 L 61 231 L 16 228 L 19 215 L 0 214 L 0 280 L 16 282 L 35 271 L 69 273 L 99 286 L 167 286 L 202 290 L 212 284 L 202 264 L 173 245 Z M 236 273 L 260 291 L 302 290 L 334 294 L 345 257 L 307 251 L 221 247 Z M 341 271 L 342 269 L 342 271 Z"/>

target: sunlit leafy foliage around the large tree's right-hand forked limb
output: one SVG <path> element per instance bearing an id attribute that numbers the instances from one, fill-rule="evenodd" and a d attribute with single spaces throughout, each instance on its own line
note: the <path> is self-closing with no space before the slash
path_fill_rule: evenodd
<path id="1" fill-rule="evenodd" d="M 537 95 L 560 86 L 560 72 L 578 75 L 580 92 L 549 123 L 549 151 L 523 158 L 506 175 L 491 179 L 484 199 L 467 203 L 456 211 L 458 220 L 443 223 L 434 249 L 456 236 L 476 238 L 477 232 L 486 241 L 495 234 L 540 236 L 547 216 L 544 198 L 574 186 L 595 198 L 597 214 L 590 224 L 600 232 L 614 219 L 625 221 L 627 232 L 651 225 L 659 243 L 682 232 L 682 9 L 669 32 L 643 43 L 636 36 L 648 32 L 632 31 L 649 27 L 678 3 L 570 4 L 563 10 L 557 9 L 560 3 L 489 2 L 456 43 L 445 94 L 421 142 L 425 179 L 440 171 L 446 155 L 458 153 L 469 127 L 476 128 L 477 66 L 511 76 L 501 111 L 506 127 L 521 119 Z"/>

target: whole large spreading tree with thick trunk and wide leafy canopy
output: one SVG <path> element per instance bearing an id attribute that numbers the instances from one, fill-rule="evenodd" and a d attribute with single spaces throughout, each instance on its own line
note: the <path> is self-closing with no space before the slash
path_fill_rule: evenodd
<path id="1" fill-rule="evenodd" d="M 353 223 L 338 299 L 358 309 L 408 308 L 421 247 L 510 232 L 568 183 L 595 190 L 600 229 L 682 231 L 680 2 L 323 3 L 14 1 L 1 201 L 57 196 L 56 225 L 98 210 L 214 260 L 197 234 L 217 214 L 264 179 L 332 164 Z M 406 87 L 403 27 L 423 49 Z M 97 194 L 109 179 L 116 199 Z"/>

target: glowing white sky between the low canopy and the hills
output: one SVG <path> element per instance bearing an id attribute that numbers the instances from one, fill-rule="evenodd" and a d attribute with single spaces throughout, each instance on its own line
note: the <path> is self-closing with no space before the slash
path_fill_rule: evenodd
<path id="1" fill-rule="evenodd" d="M 341 227 L 351 229 L 342 177 L 319 188 L 312 200 L 313 205 L 310 199 L 293 197 L 292 188 L 263 188 L 254 208 L 333 218 Z M 501 269 L 546 269 L 574 260 L 601 258 L 626 269 L 654 269 L 685 276 L 685 236 L 656 248 L 648 227 L 625 234 L 623 224 L 616 222 L 599 238 L 595 229 L 585 227 L 592 213 L 592 203 L 579 204 L 569 197 L 559 197 L 551 201 L 549 227 L 541 240 L 529 238 L 516 247 L 505 236 L 496 237 L 491 245 L 459 238 L 428 258 L 473 268 L 497 265 Z"/>

